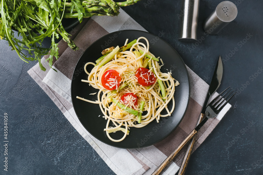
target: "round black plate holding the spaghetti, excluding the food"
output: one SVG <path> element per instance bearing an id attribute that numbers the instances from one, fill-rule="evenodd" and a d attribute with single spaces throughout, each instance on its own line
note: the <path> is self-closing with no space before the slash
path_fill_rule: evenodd
<path id="1" fill-rule="evenodd" d="M 144 36 L 149 40 L 150 52 L 157 57 L 160 56 L 165 63 L 164 66 L 161 67 L 161 71 L 168 72 L 166 69 L 169 71 L 171 70 L 172 76 L 180 83 L 179 86 L 175 87 L 175 109 L 171 116 L 161 118 L 160 123 L 157 123 L 156 120 L 154 120 L 143 128 L 130 127 L 130 134 L 127 135 L 123 141 L 113 142 L 108 139 L 105 131 L 103 131 L 106 127 L 107 120 L 102 118 L 103 114 L 99 105 L 88 103 L 76 98 L 76 96 L 79 96 L 89 100 L 97 99 L 97 94 L 89 94 L 98 92 L 98 89 L 94 89 L 92 86 L 89 86 L 88 83 L 81 82 L 81 79 L 88 79 L 88 75 L 83 71 L 83 66 L 87 62 L 95 62 L 95 60 L 101 57 L 101 51 L 105 49 L 105 47 L 116 47 L 117 45 L 123 46 L 127 38 L 129 41 L 132 41 L 140 36 Z M 91 69 L 92 66 L 87 68 L 88 71 Z M 144 31 L 122 30 L 103 36 L 95 41 L 84 52 L 80 57 L 74 72 L 71 82 L 71 97 L 74 110 L 80 122 L 90 134 L 111 146 L 125 149 L 136 149 L 139 147 L 150 146 L 163 140 L 179 125 L 188 107 L 190 83 L 188 72 L 183 60 L 173 47 L 164 40 Z M 171 107 L 171 103 L 169 107 Z M 99 115 L 100 117 L 98 117 Z M 113 139 L 120 139 L 123 136 L 123 132 L 118 131 L 116 133 L 111 133 L 110 135 Z"/>

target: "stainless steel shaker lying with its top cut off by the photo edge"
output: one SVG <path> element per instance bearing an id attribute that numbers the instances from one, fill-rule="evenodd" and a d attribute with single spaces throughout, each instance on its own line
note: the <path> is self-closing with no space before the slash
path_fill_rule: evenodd
<path id="1" fill-rule="evenodd" d="M 195 42 L 197 40 L 199 1 L 183 0 L 179 41 Z"/>

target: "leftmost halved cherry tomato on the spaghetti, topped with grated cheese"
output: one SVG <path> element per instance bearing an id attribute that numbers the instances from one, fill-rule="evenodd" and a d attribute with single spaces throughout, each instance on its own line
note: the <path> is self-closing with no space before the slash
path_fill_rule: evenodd
<path id="1" fill-rule="evenodd" d="M 119 73 L 110 69 L 103 73 L 101 83 L 105 89 L 114 90 L 120 86 L 120 80 Z"/>

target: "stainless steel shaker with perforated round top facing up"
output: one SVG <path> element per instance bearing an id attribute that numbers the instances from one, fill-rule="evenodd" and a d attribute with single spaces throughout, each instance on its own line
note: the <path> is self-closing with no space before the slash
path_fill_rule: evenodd
<path id="1" fill-rule="evenodd" d="M 218 4 L 213 13 L 204 21 L 204 30 L 215 35 L 227 24 L 236 18 L 236 5 L 230 1 L 223 1 Z"/>

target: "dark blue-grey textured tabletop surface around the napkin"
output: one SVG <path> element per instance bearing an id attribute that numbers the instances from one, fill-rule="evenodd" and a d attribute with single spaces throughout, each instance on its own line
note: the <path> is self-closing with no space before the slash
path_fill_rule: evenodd
<path id="1" fill-rule="evenodd" d="M 231 86 L 240 93 L 230 101 L 230 111 L 193 153 L 186 174 L 261 175 L 263 73 L 259 69 L 263 67 L 263 1 L 231 0 L 238 5 L 236 19 L 219 34 L 207 36 L 202 23 L 220 2 L 200 1 L 198 39 L 205 39 L 196 47 L 177 40 L 182 0 L 144 0 L 123 9 L 150 33 L 164 32 L 162 38 L 207 83 L 220 54 L 224 74 L 218 91 Z M 48 46 L 49 41 L 44 43 Z M 0 174 L 114 174 L 27 74 L 36 62 L 23 63 L 3 40 L 0 55 Z M 4 113 L 8 114 L 8 172 L 3 170 Z"/>

